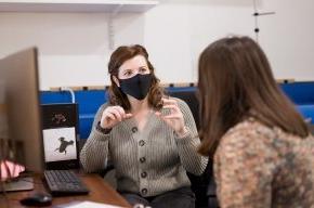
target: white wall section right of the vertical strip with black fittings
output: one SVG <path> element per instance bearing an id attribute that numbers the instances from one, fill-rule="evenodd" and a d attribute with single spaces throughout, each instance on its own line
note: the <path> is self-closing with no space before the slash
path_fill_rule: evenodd
<path id="1" fill-rule="evenodd" d="M 260 21 L 261 44 L 278 78 L 314 80 L 314 1 L 267 0 L 276 15 Z"/>

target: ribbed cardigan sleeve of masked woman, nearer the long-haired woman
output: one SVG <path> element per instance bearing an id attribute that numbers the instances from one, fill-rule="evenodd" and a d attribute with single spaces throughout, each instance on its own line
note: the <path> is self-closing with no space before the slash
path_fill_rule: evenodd
<path id="1" fill-rule="evenodd" d="M 188 131 L 188 133 L 183 138 L 175 135 L 180 159 L 186 171 L 199 176 L 206 169 L 208 157 L 204 157 L 197 153 L 200 140 L 189 107 L 182 100 L 175 100 L 178 101 L 179 108 L 183 114 L 185 127 Z"/>

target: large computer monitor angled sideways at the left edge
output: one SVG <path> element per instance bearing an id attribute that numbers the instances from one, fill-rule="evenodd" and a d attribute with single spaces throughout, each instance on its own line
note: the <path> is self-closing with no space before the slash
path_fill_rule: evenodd
<path id="1" fill-rule="evenodd" d="M 16 161 L 26 170 L 40 172 L 43 154 L 37 49 L 0 60 L 0 82 L 4 83 L 9 140 L 16 144 Z"/>

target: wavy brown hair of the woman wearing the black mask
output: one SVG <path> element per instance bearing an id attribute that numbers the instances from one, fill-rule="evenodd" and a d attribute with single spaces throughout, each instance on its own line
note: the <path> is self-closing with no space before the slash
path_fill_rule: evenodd
<path id="1" fill-rule="evenodd" d="M 116 49 L 108 63 L 108 73 L 110 75 L 112 86 L 108 89 L 109 93 L 109 104 L 120 105 L 126 110 L 131 109 L 131 104 L 128 100 L 126 93 L 114 81 L 114 76 L 118 78 L 118 73 L 120 66 L 128 60 L 136 56 L 143 55 L 147 62 L 151 74 L 153 75 L 152 86 L 148 91 L 148 105 L 155 109 L 160 109 L 162 107 L 161 98 L 163 96 L 163 89 L 159 86 L 159 79 L 155 75 L 155 68 L 148 60 L 148 53 L 146 49 L 140 44 L 134 46 L 122 46 Z"/>

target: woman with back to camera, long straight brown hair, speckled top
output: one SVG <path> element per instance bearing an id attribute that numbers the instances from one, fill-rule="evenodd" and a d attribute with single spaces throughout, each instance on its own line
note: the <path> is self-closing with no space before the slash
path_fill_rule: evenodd
<path id="1" fill-rule="evenodd" d="M 248 37 L 220 39 L 199 57 L 202 144 L 222 208 L 314 207 L 314 140 Z"/>

